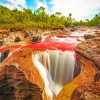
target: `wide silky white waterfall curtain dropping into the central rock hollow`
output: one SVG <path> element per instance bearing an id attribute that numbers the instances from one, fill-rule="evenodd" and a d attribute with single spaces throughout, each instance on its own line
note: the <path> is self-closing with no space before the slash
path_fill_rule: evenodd
<path id="1" fill-rule="evenodd" d="M 34 55 L 48 69 L 53 80 L 53 91 L 58 94 L 62 87 L 74 78 L 74 51 L 47 50 Z"/>

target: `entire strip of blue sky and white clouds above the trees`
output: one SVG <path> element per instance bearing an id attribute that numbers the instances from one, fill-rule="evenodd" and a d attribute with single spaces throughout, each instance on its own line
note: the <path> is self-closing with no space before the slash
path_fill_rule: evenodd
<path id="1" fill-rule="evenodd" d="M 0 0 L 0 5 L 19 10 L 29 8 L 32 11 L 43 6 L 49 14 L 61 12 L 68 16 L 72 13 L 76 20 L 91 19 L 100 13 L 100 0 Z"/>

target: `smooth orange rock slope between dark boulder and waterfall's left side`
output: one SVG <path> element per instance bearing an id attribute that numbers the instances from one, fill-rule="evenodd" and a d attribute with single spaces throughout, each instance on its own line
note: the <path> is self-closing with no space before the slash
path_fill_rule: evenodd
<path id="1" fill-rule="evenodd" d="M 42 91 L 41 95 L 43 100 L 50 100 L 50 97 L 46 93 L 47 91 L 45 91 L 44 80 L 32 61 L 32 53 L 32 49 L 24 47 L 16 50 L 12 53 L 11 56 L 6 58 L 1 63 L 0 67 L 2 68 L 3 66 L 10 65 L 16 66 L 16 68 L 25 75 L 25 78 L 31 84 L 35 84 L 36 86 L 38 86 L 38 88 L 40 88 L 40 90 Z"/>

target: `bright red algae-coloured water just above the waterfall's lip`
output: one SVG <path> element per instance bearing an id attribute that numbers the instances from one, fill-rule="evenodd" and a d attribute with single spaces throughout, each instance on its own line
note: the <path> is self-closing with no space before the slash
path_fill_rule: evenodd
<path id="1" fill-rule="evenodd" d="M 57 42 L 57 41 L 53 41 L 53 40 L 47 40 L 47 41 L 36 43 L 36 44 L 30 44 L 30 45 L 27 45 L 26 47 L 32 48 L 34 50 L 49 49 L 49 50 L 73 51 L 75 46 L 76 45 L 74 43 L 66 43 L 66 42 Z"/>

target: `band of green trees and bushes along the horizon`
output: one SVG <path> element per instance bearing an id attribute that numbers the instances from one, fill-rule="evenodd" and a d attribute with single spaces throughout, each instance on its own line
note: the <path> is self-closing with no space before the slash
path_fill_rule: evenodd
<path id="1" fill-rule="evenodd" d="M 70 13 L 68 17 L 62 16 L 60 12 L 49 15 L 45 8 L 40 7 L 32 12 L 30 9 L 10 10 L 0 5 L 0 28 L 31 29 L 31 28 L 62 28 L 66 26 L 98 26 L 100 25 L 100 14 L 91 20 L 75 21 Z"/>

